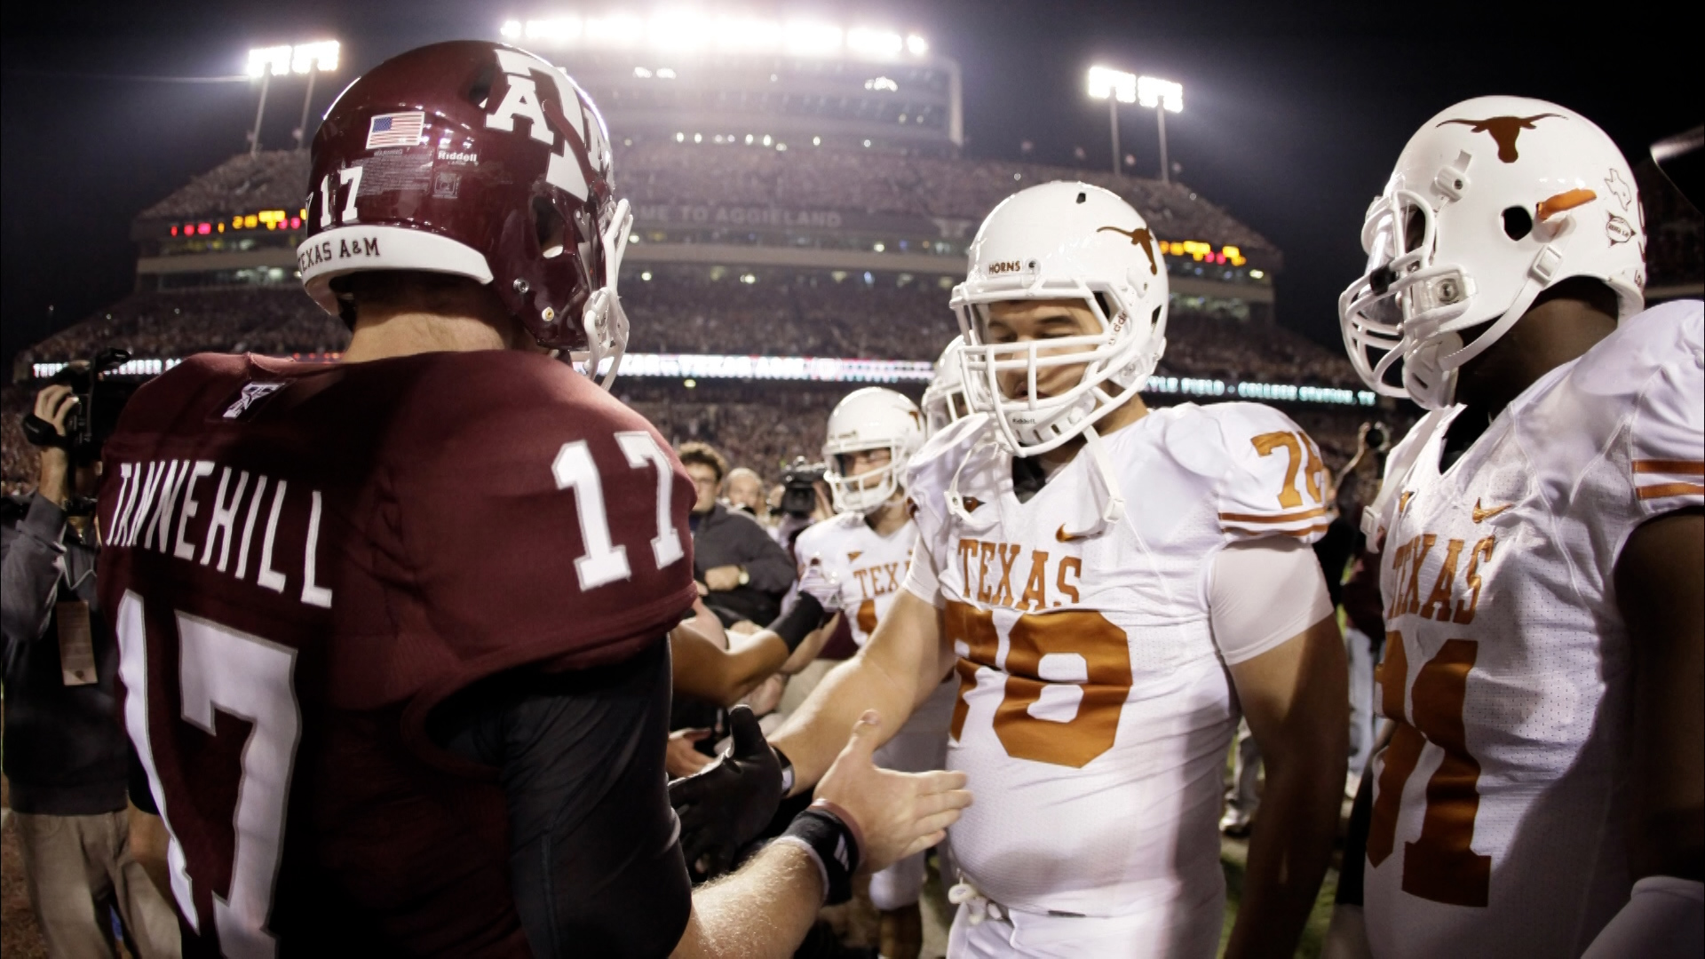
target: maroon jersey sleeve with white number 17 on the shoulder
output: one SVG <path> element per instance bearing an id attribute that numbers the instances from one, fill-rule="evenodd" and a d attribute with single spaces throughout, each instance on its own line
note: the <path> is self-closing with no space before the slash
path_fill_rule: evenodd
<path id="1" fill-rule="evenodd" d="M 522 664 L 626 659 L 679 623 L 696 592 L 692 486 L 668 444 L 542 357 L 483 355 L 454 375 L 414 389 L 385 461 L 404 567 L 392 616 L 440 660 L 428 701 Z"/>

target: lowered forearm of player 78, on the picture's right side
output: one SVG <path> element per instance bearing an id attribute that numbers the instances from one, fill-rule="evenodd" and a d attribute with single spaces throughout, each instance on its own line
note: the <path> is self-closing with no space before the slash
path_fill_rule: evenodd
<path id="1" fill-rule="evenodd" d="M 1260 821 L 1250 838 L 1248 869 L 1228 957 L 1291 956 L 1332 863 L 1344 793 L 1344 756 L 1269 756 Z"/>

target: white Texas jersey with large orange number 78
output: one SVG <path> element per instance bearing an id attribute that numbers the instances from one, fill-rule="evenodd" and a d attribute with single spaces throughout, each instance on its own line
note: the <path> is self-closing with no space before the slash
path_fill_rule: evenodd
<path id="1" fill-rule="evenodd" d="M 987 416 L 912 459 L 907 589 L 945 609 L 960 655 L 948 764 L 977 793 L 953 855 L 1004 906 L 1144 913 L 1156 956 L 1212 956 L 1238 710 L 1209 570 L 1240 539 L 1318 539 L 1325 469 L 1296 423 L 1248 403 L 1154 410 L 1103 447 L 1129 509 L 1096 536 L 1071 532 L 1100 515 L 1088 454 L 1023 503 Z M 946 507 L 955 474 L 968 522 Z"/>

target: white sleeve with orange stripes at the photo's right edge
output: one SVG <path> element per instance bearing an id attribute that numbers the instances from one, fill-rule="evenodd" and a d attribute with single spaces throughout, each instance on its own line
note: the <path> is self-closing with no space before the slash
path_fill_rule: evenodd
<path id="1" fill-rule="evenodd" d="M 1676 307 L 1691 305 L 1688 312 Z M 1645 517 L 1705 505 L 1705 374 L 1702 374 L 1700 304 L 1676 304 L 1679 316 L 1654 309 L 1630 323 L 1667 319 L 1650 331 L 1644 350 L 1644 389 L 1628 423 L 1630 485 Z M 1667 346 L 1667 348 L 1666 348 Z"/>

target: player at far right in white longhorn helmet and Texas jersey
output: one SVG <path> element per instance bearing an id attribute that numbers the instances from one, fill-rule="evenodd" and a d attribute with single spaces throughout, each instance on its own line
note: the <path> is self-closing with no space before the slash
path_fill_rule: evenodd
<path id="1" fill-rule="evenodd" d="M 1645 241 L 1616 145 L 1523 97 L 1367 212 L 1345 345 L 1429 410 L 1362 519 L 1395 730 L 1335 925 L 1374 956 L 1702 950 L 1702 305 L 1644 309 Z"/>

